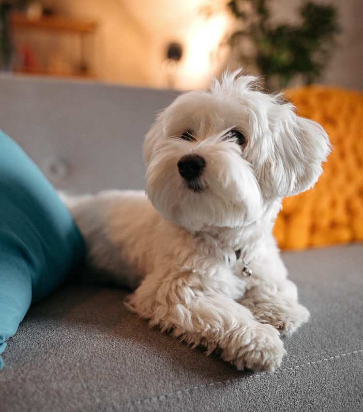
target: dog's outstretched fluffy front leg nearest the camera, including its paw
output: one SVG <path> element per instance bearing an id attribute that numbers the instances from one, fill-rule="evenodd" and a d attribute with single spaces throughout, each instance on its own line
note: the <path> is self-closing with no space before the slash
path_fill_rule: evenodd
<path id="1" fill-rule="evenodd" d="M 211 352 L 221 349 L 224 360 L 238 369 L 273 371 L 285 349 L 278 331 L 254 319 L 233 299 L 216 293 L 203 294 L 182 279 L 162 284 L 146 277 L 130 297 L 130 306 L 163 331 L 169 330 L 190 344 L 202 344 Z"/>

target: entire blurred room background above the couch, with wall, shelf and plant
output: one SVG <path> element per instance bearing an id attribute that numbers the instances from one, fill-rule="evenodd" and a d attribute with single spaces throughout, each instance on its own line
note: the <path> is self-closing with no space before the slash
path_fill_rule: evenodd
<path id="1" fill-rule="evenodd" d="M 0 0 L 0 70 L 185 90 L 228 66 L 266 87 L 363 90 L 361 0 Z"/>

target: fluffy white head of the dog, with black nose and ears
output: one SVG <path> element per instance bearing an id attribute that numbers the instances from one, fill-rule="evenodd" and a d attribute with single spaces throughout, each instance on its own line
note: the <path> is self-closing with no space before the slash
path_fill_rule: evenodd
<path id="1" fill-rule="evenodd" d="M 255 83 L 226 73 L 158 115 L 144 143 L 146 190 L 165 219 L 190 230 L 247 225 L 318 180 L 330 152 L 324 129 Z"/>

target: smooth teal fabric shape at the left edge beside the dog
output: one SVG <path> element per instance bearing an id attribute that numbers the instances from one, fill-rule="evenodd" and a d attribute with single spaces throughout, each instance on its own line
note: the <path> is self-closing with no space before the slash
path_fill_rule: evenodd
<path id="1" fill-rule="evenodd" d="M 30 303 L 56 289 L 85 254 L 67 207 L 23 150 L 0 130 L 1 353 Z"/>

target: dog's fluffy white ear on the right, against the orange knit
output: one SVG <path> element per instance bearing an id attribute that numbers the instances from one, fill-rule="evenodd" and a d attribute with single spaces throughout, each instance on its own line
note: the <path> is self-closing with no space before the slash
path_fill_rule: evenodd
<path id="1" fill-rule="evenodd" d="M 269 113 L 272 146 L 263 167 L 263 190 L 274 196 L 291 196 L 310 189 L 322 173 L 322 162 L 331 150 L 325 130 L 296 115 L 290 103 L 274 102 Z"/>

